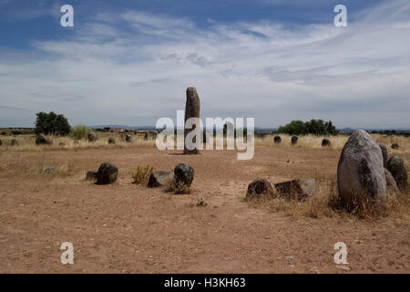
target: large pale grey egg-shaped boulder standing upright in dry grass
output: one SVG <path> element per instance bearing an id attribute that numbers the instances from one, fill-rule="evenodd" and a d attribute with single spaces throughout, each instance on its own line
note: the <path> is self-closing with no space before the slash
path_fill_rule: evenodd
<path id="1" fill-rule="evenodd" d="M 365 130 L 356 130 L 344 144 L 337 166 L 340 202 L 348 210 L 368 195 L 374 202 L 386 199 L 383 155 Z"/>

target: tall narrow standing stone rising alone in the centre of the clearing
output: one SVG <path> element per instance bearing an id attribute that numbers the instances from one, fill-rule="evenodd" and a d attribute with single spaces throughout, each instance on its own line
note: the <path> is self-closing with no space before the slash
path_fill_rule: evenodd
<path id="1" fill-rule="evenodd" d="M 200 119 L 200 97 L 198 96 L 197 89 L 195 88 L 187 89 L 187 102 L 185 104 L 185 123 L 190 118 Z M 189 150 L 187 148 L 186 139 L 187 139 L 187 135 L 191 131 L 196 131 L 197 133 L 196 137 L 200 139 L 200 127 L 196 129 L 194 125 L 192 129 L 185 129 L 184 130 L 184 154 L 198 154 L 200 152 L 200 150 L 197 148 L 193 150 Z M 196 139 L 193 139 L 192 142 L 196 143 Z"/>

